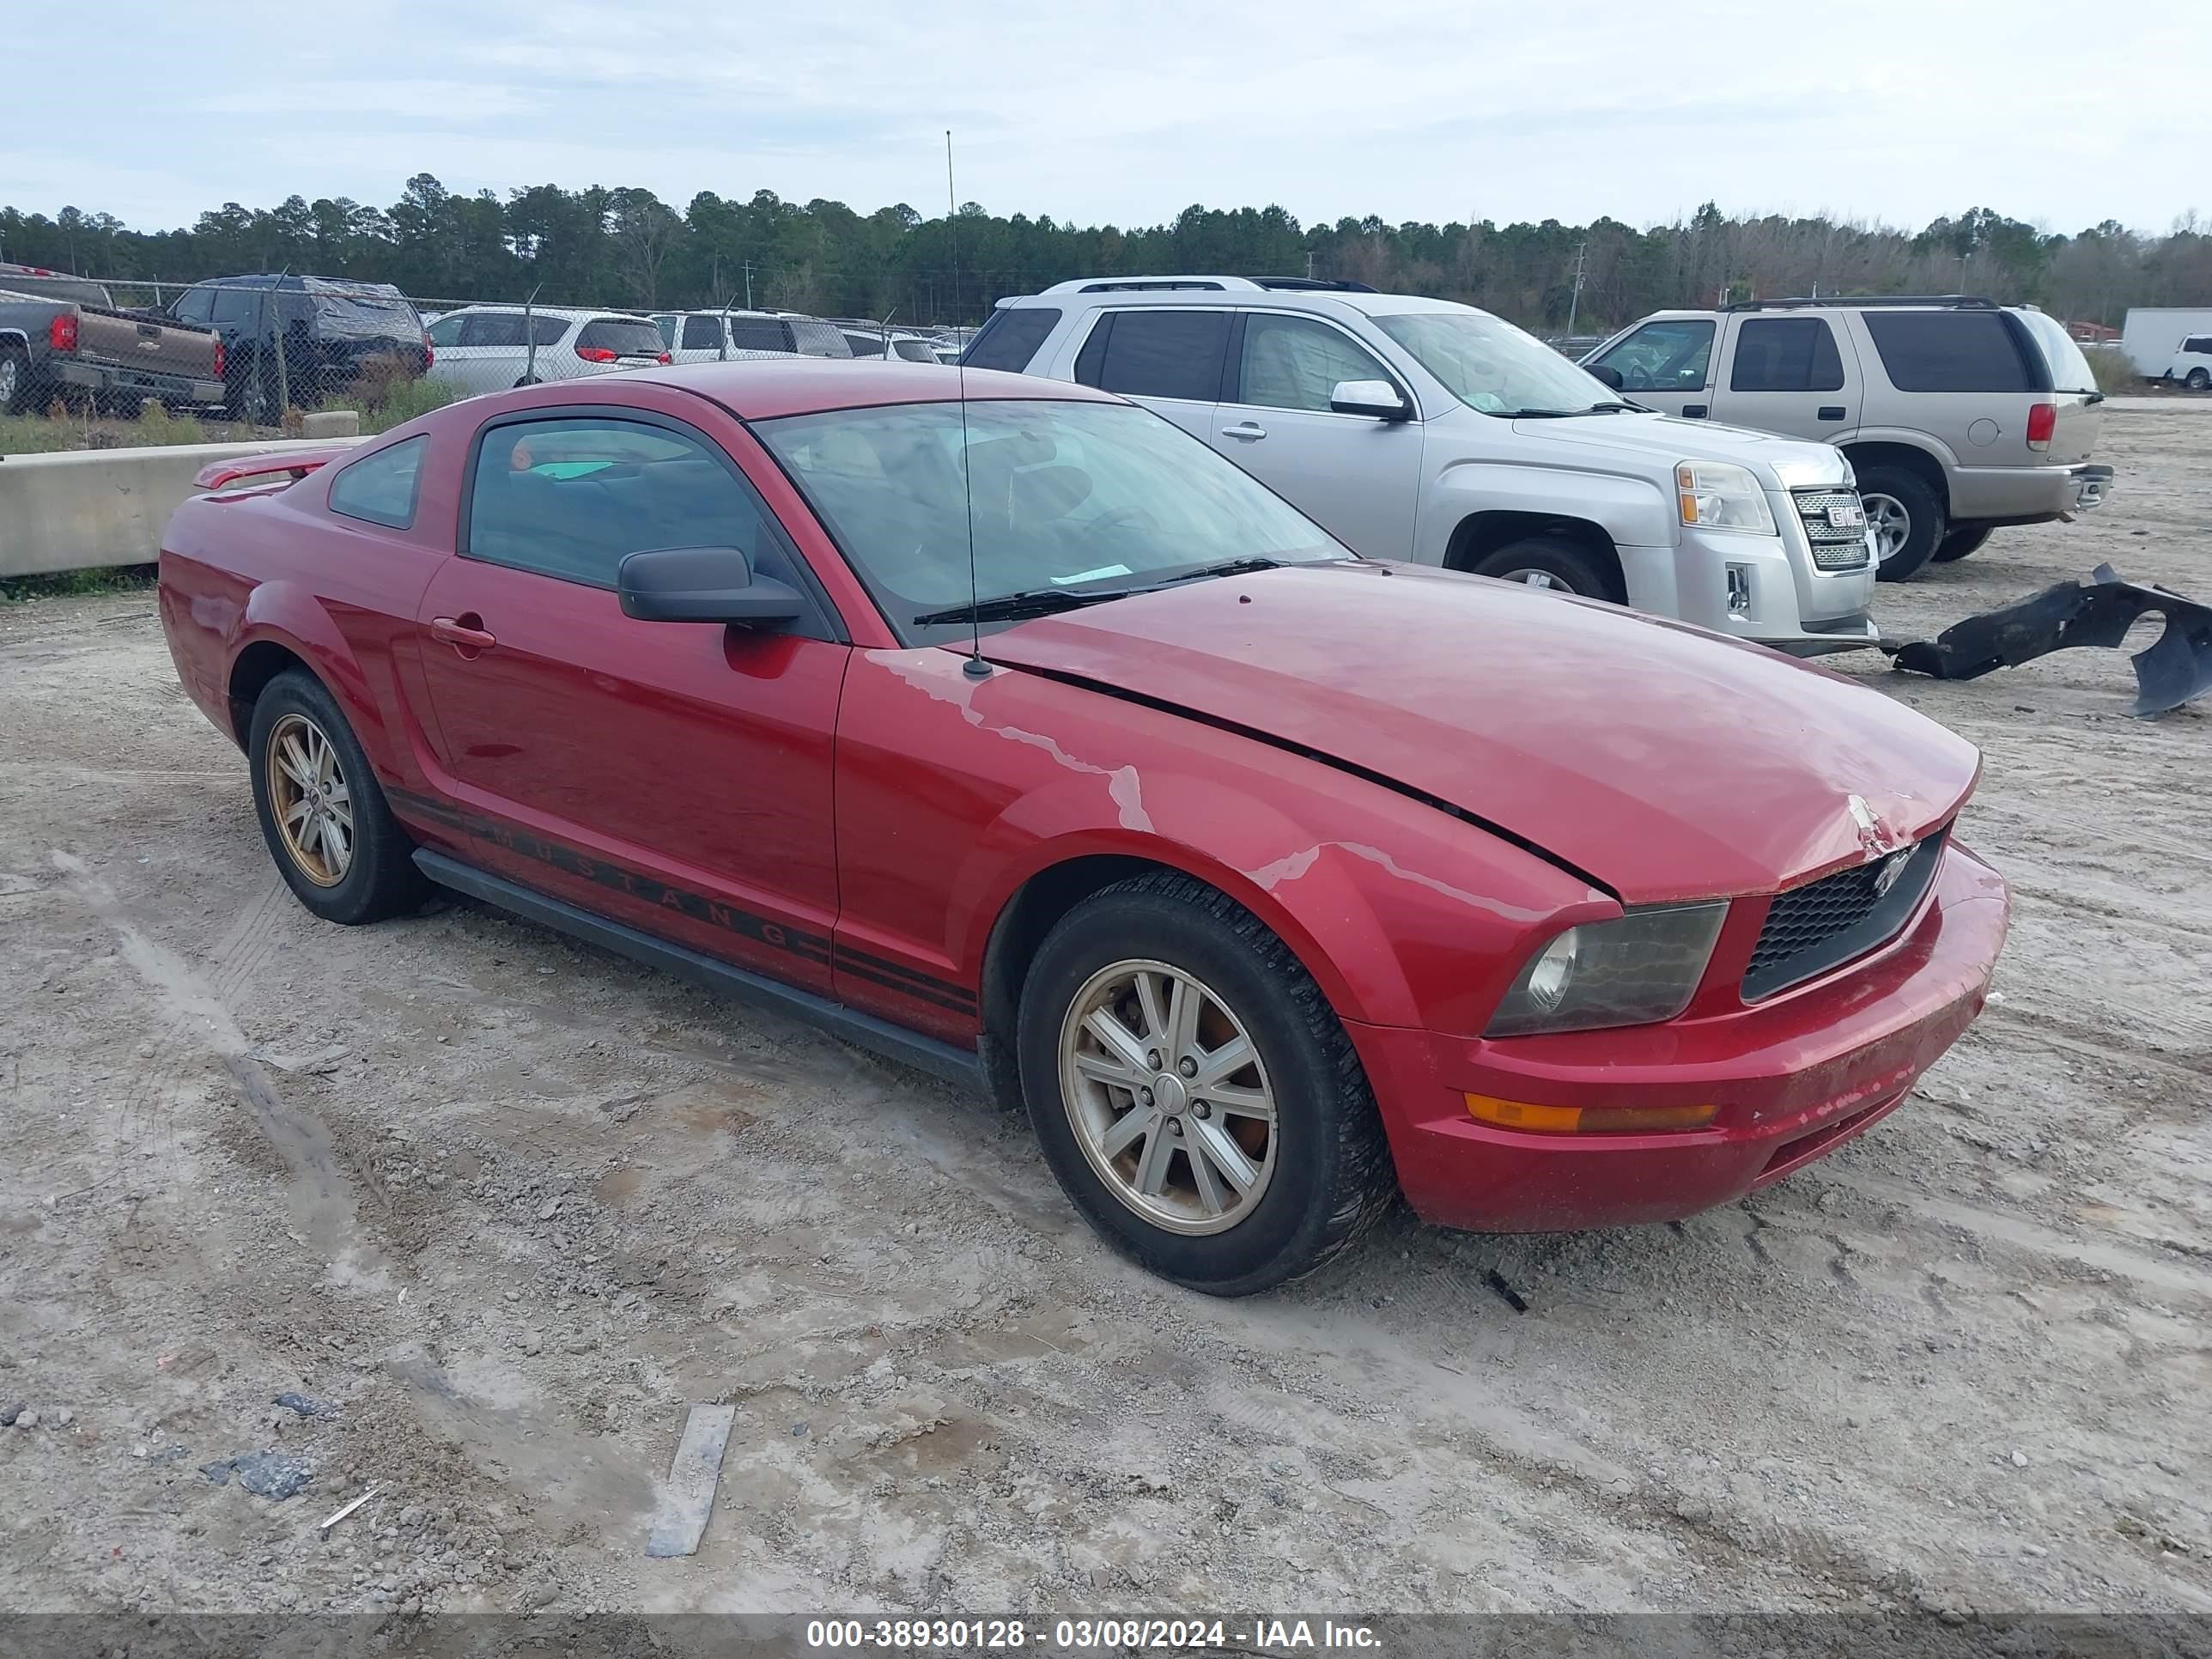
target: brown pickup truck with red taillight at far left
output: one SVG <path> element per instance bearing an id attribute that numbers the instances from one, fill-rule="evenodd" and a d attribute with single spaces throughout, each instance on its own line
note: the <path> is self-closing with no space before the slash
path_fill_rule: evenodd
<path id="1" fill-rule="evenodd" d="M 88 396 L 137 414 L 223 400 L 223 343 L 201 327 L 119 307 L 100 283 L 0 265 L 0 414 Z"/>

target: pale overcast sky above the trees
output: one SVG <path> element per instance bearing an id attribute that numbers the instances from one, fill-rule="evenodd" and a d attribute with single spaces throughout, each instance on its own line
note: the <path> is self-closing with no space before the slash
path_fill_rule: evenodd
<path id="1" fill-rule="evenodd" d="M 1079 223 L 2048 230 L 2212 215 L 2212 0 L 124 0 L 7 77 L 0 206 L 133 228 L 285 195 L 646 186 Z M 102 51 L 102 42 L 111 51 Z M 2170 82 L 2161 86 L 2161 82 Z"/>

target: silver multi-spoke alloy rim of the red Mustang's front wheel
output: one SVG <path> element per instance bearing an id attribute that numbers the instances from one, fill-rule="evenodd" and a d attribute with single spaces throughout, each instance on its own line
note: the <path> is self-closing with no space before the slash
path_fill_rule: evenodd
<path id="1" fill-rule="evenodd" d="M 1237 1011 L 1168 962 L 1102 967 L 1060 1026 L 1060 1097 L 1091 1168 L 1168 1232 L 1225 1232 L 1267 1190 L 1274 1088 Z"/>

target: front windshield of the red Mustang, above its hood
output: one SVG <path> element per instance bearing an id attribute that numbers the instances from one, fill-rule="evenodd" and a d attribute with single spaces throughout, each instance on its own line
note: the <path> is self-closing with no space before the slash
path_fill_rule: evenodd
<path id="1" fill-rule="evenodd" d="M 1121 403 L 962 405 L 759 420 L 768 442 L 916 644 L 962 624 L 916 617 L 975 597 L 1150 586 L 1234 560 L 1352 557 L 1329 533 L 1206 445 Z"/>

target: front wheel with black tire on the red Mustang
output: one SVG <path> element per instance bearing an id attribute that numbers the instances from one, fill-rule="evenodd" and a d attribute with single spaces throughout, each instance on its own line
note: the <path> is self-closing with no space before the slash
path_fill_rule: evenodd
<path id="1" fill-rule="evenodd" d="M 1128 1086 L 1077 1071 L 1117 1068 L 1084 1018 L 1093 1009 L 1148 1064 L 1150 1011 L 1130 969 L 1150 978 L 1159 1015 L 1177 1006 L 1168 975 L 1181 975 L 1197 998 L 1197 1055 L 1219 1055 L 1241 1033 L 1254 1060 L 1212 1079 L 1223 1091 L 1214 1099 L 1237 1088 L 1241 1106 L 1208 1099 L 1203 1071 L 1186 1093 L 1186 1068 L 1168 1053 L 1157 1075 L 1119 1064 Z M 1068 911 L 1029 964 L 1015 1046 L 1029 1119 L 1062 1190 L 1161 1279 L 1210 1296 L 1272 1290 L 1343 1252 L 1396 1194 L 1367 1073 L 1321 987 L 1256 916 L 1188 876 L 1137 876 Z M 1144 1099 L 1139 1084 L 1159 1093 Z M 1250 1115 L 1261 1097 L 1272 1097 L 1270 1119 Z M 1150 1128 L 1115 1146 L 1130 1119 Z M 1155 1139 L 1157 1197 L 1146 1197 Z M 1194 1146 L 1228 1148 L 1203 1152 L 1203 1181 Z M 1241 1188 L 1228 1159 L 1241 1161 Z"/>

